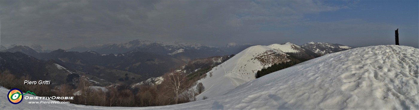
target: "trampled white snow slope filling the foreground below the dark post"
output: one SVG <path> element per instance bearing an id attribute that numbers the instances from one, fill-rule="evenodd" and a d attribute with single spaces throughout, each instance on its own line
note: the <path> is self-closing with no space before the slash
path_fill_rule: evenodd
<path id="1" fill-rule="evenodd" d="M 196 102 L 157 107 L 98 107 L 34 105 L 28 104 L 34 100 L 23 100 L 13 105 L 7 101 L 5 94 L 8 90 L 1 88 L 0 109 L 417 110 L 418 64 L 419 49 L 396 45 L 369 46 L 326 54 L 241 84 L 219 97 Z"/>

